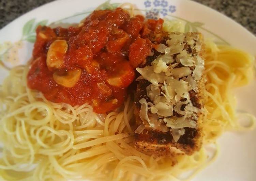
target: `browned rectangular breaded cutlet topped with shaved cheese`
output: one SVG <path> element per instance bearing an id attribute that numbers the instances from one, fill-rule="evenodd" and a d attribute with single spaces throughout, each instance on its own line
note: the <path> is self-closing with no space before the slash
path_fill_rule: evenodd
<path id="1" fill-rule="evenodd" d="M 204 44 L 200 33 L 152 34 L 152 56 L 136 70 L 135 147 L 147 154 L 188 154 L 202 144 Z"/>

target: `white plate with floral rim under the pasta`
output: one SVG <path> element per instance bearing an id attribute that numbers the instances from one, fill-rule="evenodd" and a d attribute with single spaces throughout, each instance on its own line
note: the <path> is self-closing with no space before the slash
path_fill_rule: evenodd
<path id="1" fill-rule="evenodd" d="M 58 0 L 43 5 L 14 20 L 0 30 L 0 59 L 6 65 L 24 64 L 32 53 L 37 23 L 50 24 L 79 22 L 105 0 Z M 186 29 L 200 31 L 216 42 L 230 44 L 253 55 L 256 54 L 256 37 L 235 21 L 198 3 L 189 0 L 111 0 L 102 7 L 116 7 L 131 2 L 148 17 L 177 19 L 186 23 Z M 20 42 L 19 42 L 20 41 Z M 19 42 L 19 43 L 17 43 Z M 16 52 L 16 53 L 15 53 Z M 1 68 L 0 82 L 7 75 Z M 256 81 L 237 90 L 238 109 L 256 116 Z M 202 170 L 196 181 L 253 181 L 256 178 L 256 130 L 245 133 L 227 132 L 219 143 L 221 153 L 217 160 Z"/>

